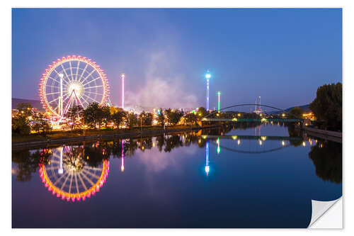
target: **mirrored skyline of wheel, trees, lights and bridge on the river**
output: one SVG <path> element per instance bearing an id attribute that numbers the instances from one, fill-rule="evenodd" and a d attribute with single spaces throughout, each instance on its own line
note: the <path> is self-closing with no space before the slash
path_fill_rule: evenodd
<path id="1" fill-rule="evenodd" d="M 210 144 L 215 145 L 216 154 L 239 152 L 262 154 L 276 152 L 288 147 L 311 147 L 309 158 L 316 167 L 316 175 L 324 181 L 340 184 L 342 181 L 341 144 L 324 142 L 305 137 L 299 130 L 288 126 L 288 136 L 262 135 L 256 127 L 256 135 L 228 135 L 234 126 L 225 125 L 215 130 L 202 130 L 198 133 L 178 135 L 159 135 L 139 139 L 100 140 L 84 142 L 82 145 L 63 146 L 42 150 L 13 151 L 13 174 L 16 181 L 30 181 L 37 170 L 45 187 L 66 201 L 81 201 L 94 195 L 106 181 L 109 172 L 109 159 L 120 159 L 120 171 L 125 171 L 125 159 L 136 156 L 136 150 L 142 153 L 156 149 L 170 153 L 179 147 L 195 145 L 205 147 L 205 173 L 210 174 Z M 256 129 L 255 128 L 255 129 Z M 187 149 L 188 150 L 188 149 Z M 222 155 L 220 154 L 222 157 Z M 175 164 L 176 160 L 166 155 L 152 154 L 147 162 L 149 169 L 155 172 Z"/>

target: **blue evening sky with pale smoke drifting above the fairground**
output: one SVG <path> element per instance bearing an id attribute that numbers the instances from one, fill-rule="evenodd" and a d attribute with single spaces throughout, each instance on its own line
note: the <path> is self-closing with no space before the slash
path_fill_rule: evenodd
<path id="1" fill-rule="evenodd" d="M 41 74 L 67 55 L 105 70 L 110 99 L 205 106 L 310 103 L 342 81 L 341 9 L 13 9 L 12 97 L 37 99 Z M 139 105 L 139 104 L 138 104 Z"/>

